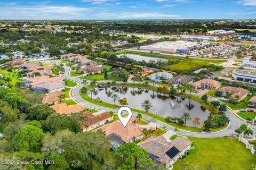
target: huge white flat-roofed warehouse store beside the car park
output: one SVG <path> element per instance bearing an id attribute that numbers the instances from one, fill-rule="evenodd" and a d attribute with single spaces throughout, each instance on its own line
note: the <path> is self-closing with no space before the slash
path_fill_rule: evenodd
<path id="1" fill-rule="evenodd" d="M 145 50 L 155 53 L 186 53 L 188 51 L 194 50 L 196 48 L 202 47 L 202 43 L 195 43 L 191 41 L 164 41 L 148 46 L 141 46 L 140 50 Z"/>

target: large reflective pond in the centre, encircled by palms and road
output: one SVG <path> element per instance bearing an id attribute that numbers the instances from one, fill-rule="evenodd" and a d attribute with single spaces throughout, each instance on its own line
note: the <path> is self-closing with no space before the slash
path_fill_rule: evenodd
<path id="1" fill-rule="evenodd" d="M 153 106 L 149 109 L 149 112 L 154 114 L 157 113 L 163 117 L 180 117 L 184 112 L 188 112 L 191 114 L 192 120 L 187 121 L 187 125 L 193 125 L 193 119 L 196 116 L 200 118 L 200 122 L 204 122 L 207 120 L 207 116 L 209 116 L 209 112 L 197 101 L 159 94 L 155 91 L 146 89 L 126 87 L 103 88 L 98 89 L 98 95 L 93 98 L 99 97 L 102 101 L 114 104 L 113 99 L 110 97 L 113 93 L 118 94 L 120 98 L 127 98 L 128 107 L 137 108 L 141 111 L 144 111 L 141 107 L 141 103 L 147 99 Z M 116 104 L 119 104 L 118 101 L 116 101 Z"/>

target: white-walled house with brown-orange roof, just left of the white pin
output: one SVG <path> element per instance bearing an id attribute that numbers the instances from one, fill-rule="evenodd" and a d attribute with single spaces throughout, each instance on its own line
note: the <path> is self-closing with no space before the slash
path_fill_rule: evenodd
<path id="1" fill-rule="evenodd" d="M 103 113 L 100 112 L 99 114 L 84 112 L 83 114 L 87 116 L 88 120 L 85 122 L 85 125 L 81 126 L 82 132 L 90 131 L 101 125 L 105 125 L 109 121 L 111 121 L 111 116 L 106 112 L 103 112 Z"/>

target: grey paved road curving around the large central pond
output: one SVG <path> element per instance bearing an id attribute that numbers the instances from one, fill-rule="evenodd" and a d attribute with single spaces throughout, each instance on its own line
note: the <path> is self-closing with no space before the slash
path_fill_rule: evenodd
<path id="1" fill-rule="evenodd" d="M 79 83 L 78 86 L 74 87 L 73 91 L 72 91 L 72 96 L 73 96 L 73 98 L 75 100 L 77 100 L 79 103 L 81 103 L 81 104 L 83 104 L 83 105 L 85 105 L 87 107 L 90 107 L 90 108 L 101 109 L 101 110 L 105 110 L 105 111 L 117 112 L 117 109 L 113 109 L 113 108 L 108 108 L 108 107 L 103 107 L 103 106 L 92 104 L 89 101 L 84 100 L 81 96 L 79 96 L 78 91 L 79 91 L 79 89 L 81 89 L 84 86 L 84 84 L 81 84 L 82 80 L 74 78 L 74 77 L 71 77 L 70 75 L 68 75 L 68 71 L 69 71 L 69 68 L 67 66 L 65 66 L 65 73 L 63 74 L 63 77 L 65 77 L 67 79 L 70 79 L 70 80 L 73 80 L 73 81 L 76 81 L 76 82 Z M 199 95 L 199 94 L 195 94 L 195 95 L 202 96 L 202 95 Z M 214 98 L 209 98 L 209 100 L 213 101 L 215 99 Z M 133 112 L 133 114 L 137 115 L 138 113 Z M 229 117 L 230 124 L 229 124 L 228 128 L 226 128 L 225 130 L 218 131 L 218 132 L 212 132 L 212 133 L 196 133 L 196 132 L 188 132 L 188 131 L 185 131 L 185 130 L 180 130 L 179 133 L 181 133 L 183 135 L 189 135 L 191 137 L 201 137 L 201 138 L 223 137 L 223 136 L 233 135 L 235 133 L 234 132 L 235 129 L 239 128 L 239 126 L 241 124 L 246 124 L 245 121 L 239 120 L 230 111 L 227 111 L 226 115 Z M 144 114 L 142 115 L 142 117 L 145 120 L 148 120 L 148 121 L 153 122 L 153 123 L 157 123 L 158 126 L 165 125 L 167 127 L 167 129 L 174 131 L 174 127 L 170 126 L 169 124 L 165 124 L 164 122 L 158 121 L 158 120 L 156 120 L 153 117 L 149 117 L 149 116 L 147 117 Z M 252 125 L 252 130 L 254 132 L 256 132 L 256 126 Z"/>

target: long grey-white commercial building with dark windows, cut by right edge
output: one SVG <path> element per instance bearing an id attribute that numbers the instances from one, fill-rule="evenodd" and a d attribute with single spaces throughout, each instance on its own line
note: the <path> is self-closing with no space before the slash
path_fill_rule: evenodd
<path id="1" fill-rule="evenodd" d="M 256 71 L 235 70 L 232 73 L 232 79 L 249 83 L 256 83 Z"/>

